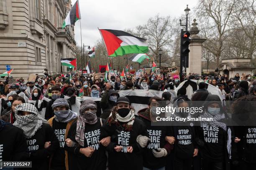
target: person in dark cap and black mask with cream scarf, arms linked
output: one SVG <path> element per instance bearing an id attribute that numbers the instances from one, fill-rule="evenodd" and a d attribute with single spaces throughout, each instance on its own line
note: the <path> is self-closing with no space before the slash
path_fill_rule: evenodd
<path id="1" fill-rule="evenodd" d="M 141 145 L 145 146 L 147 141 L 140 137 L 148 138 L 149 136 L 146 126 L 135 117 L 135 111 L 130 107 L 127 97 L 118 98 L 117 105 L 113 107 L 110 117 L 103 125 L 100 136 L 100 138 L 111 136 L 111 142 L 107 146 L 110 170 L 141 170 L 143 168 Z"/>

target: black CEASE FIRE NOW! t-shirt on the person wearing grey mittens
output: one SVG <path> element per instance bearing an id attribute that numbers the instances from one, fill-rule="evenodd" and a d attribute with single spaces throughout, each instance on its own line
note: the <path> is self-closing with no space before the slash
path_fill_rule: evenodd
<path id="1" fill-rule="evenodd" d="M 138 117 L 141 119 L 147 128 L 151 142 L 143 149 L 143 167 L 149 169 L 158 169 L 166 165 L 166 157 L 156 158 L 152 153 L 152 149 L 164 148 L 166 144 L 165 137 L 171 136 L 170 126 L 151 126 L 151 121 Z"/>

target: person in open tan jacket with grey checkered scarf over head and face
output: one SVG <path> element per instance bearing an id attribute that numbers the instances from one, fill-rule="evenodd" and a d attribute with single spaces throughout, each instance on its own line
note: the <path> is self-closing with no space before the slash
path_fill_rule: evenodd
<path id="1" fill-rule="evenodd" d="M 77 120 L 77 113 L 69 110 L 69 103 L 63 98 L 56 99 L 51 107 L 54 110 L 54 117 L 48 122 L 59 140 L 59 148 L 51 160 L 51 169 L 64 170 L 68 169 L 68 155 L 64 150 L 64 144 L 72 123 Z"/>

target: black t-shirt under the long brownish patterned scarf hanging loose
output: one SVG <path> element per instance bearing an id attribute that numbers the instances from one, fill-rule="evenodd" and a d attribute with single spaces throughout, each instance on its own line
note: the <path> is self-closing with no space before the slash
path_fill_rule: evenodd
<path id="1" fill-rule="evenodd" d="M 105 120 L 102 119 L 102 123 Z M 105 155 L 105 147 L 100 145 L 100 134 L 101 134 L 102 126 L 100 122 L 100 118 L 98 118 L 95 124 L 85 124 L 84 127 L 84 147 L 88 146 L 94 148 L 95 151 L 92 156 L 86 157 L 85 155 L 79 153 L 74 154 L 72 148 L 68 148 L 69 154 L 69 170 L 105 170 L 107 163 L 107 156 Z M 76 141 L 75 135 L 77 132 L 77 121 L 73 122 L 69 129 L 69 133 L 67 138 L 70 138 L 73 141 Z M 79 150 L 77 148 L 76 150 Z"/>

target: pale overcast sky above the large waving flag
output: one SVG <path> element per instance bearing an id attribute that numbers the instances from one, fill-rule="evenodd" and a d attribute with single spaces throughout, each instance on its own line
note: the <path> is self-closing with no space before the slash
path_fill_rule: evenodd
<path id="1" fill-rule="evenodd" d="M 76 0 L 72 0 L 72 5 Z M 148 18 L 159 13 L 160 16 L 179 17 L 189 5 L 193 8 L 197 0 L 79 0 L 81 20 L 75 25 L 75 40 L 81 45 L 80 21 L 82 24 L 82 43 L 95 45 L 101 38 L 100 29 L 124 30 L 146 24 Z"/>

